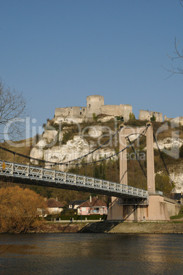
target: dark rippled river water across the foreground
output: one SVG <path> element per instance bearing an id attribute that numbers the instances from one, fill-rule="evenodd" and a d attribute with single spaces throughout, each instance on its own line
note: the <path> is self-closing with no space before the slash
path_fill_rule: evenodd
<path id="1" fill-rule="evenodd" d="M 0 235 L 0 274 L 183 274 L 183 235 Z"/>

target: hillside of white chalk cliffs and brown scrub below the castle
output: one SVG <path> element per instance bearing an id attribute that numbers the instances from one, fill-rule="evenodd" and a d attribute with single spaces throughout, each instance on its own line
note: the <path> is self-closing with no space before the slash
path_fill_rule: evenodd
<path id="1" fill-rule="evenodd" d="M 23 155 L 28 155 L 36 159 L 45 159 L 46 161 L 53 161 L 53 163 L 60 163 L 65 161 L 71 161 L 77 159 L 80 156 L 87 155 L 90 151 L 95 150 L 108 141 L 114 133 L 117 132 L 121 125 L 121 121 L 110 120 L 107 122 L 101 122 L 101 116 L 93 119 L 93 122 L 88 123 L 62 123 L 61 127 L 54 122 L 54 120 L 48 120 L 45 126 L 45 133 L 41 136 L 36 136 L 35 139 L 29 142 L 29 146 L 14 147 L 4 143 L 3 146 L 14 150 Z M 125 123 L 126 127 L 141 127 L 145 126 L 146 121 L 140 121 L 132 119 Z M 159 147 L 164 157 L 164 161 L 167 165 L 171 179 L 175 184 L 175 187 L 171 187 L 169 179 L 167 179 L 166 170 L 164 164 L 160 158 L 158 148 L 154 142 L 154 160 L 156 170 L 156 185 L 157 189 L 162 189 L 164 192 L 170 192 L 173 188 L 173 192 L 183 191 L 183 159 L 178 155 L 178 152 L 183 144 L 183 127 L 180 125 L 171 125 L 167 122 L 153 122 L 154 134 L 158 140 Z M 133 140 L 133 138 L 131 138 Z M 141 138 L 141 141 L 134 144 L 134 148 L 138 157 L 141 160 L 141 166 L 143 170 L 146 170 L 145 161 L 145 138 Z M 50 163 L 45 163 L 45 167 L 51 166 L 55 169 L 62 169 L 70 172 L 76 172 L 78 174 L 87 174 L 88 176 L 95 176 L 102 179 L 108 179 L 110 181 L 119 181 L 119 161 L 117 157 L 112 157 L 110 160 L 101 161 L 100 163 L 93 163 L 91 165 L 78 165 L 81 162 L 92 162 L 99 159 L 114 155 L 119 151 L 118 136 L 115 135 L 105 146 L 95 151 L 93 154 L 88 155 L 84 159 L 75 161 L 73 166 L 54 166 Z M 145 176 L 139 168 L 139 163 L 135 159 L 132 148 L 127 149 L 129 160 L 128 166 L 128 181 L 129 185 L 141 187 L 147 189 L 147 181 Z M 177 157 L 178 155 L 178 157 Z M 133 156 L 133 157 L 132 157 Z M 141 157 L 143 156 L 143 157 Z M 27 159 L 23 159 L 19 156 L 14 156 L 10 153 L 3 152 L 1 150 L 1 159 L 29 163 Z M 32 164 L 42 165 L 40 161 L 32 161 Z M 166 189 L 164 184 L 169 185 Z M 60 200 L 66 200 L 69 202 L 71 199 L 83 199 L 88 198 L 88 194 L 82 192 L 65 192 L 65 190 L 53 190 L 53 188 L 44 189 L 43 187 L 31 187 L 36 192 L 42 194 L 42 196 L 58 196 Z M 43 188 L 43 189 L 42 189 Z"/>

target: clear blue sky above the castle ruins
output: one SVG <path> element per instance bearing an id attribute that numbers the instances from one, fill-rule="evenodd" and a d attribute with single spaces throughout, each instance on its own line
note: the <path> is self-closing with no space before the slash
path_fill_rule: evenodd
<path id="1" fill-rule="evenodd" d="M 25 96 L 36 131 L 92 94 L 136 118 L 183 116 L 183 75 L 164 69 L 177 65 L 167 54 L 175 37 L 182 51 L 182 25 L 179 0 L 0 0 L 0 77 Z"/>

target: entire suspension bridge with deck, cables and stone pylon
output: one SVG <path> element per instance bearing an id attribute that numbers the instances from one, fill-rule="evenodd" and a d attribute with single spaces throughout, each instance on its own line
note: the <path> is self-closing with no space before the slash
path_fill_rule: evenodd
<path id="1" fill-rule="evenodd" d="M 108 211 L 108 217 L 110 220 L 169 220 L 169 216 L 166 206 L 164 205 L 163 196 L 156 194 L 155 179 L 154 179 L 154 147 L 153 147 L 153 128 L 151 122 L 147 123 L 145 127 L 139 127 L 136 129 L 129 129 L 121 127 L 117 133 L 119 133 L 119 152 L 99 159 L 97 161 L 90 161 L 82 163 L 80 160 L 88 157 L 88 155 L 99 150 L 102 146 L 105 146 L 107 142 L 91 151 L 90 153 L 62 163 L 56 163 L 53 161 L 45 161 L 35 159 L 20 153 L 16 153 L 7 148 L 0 146 L 1 150 L 6 150 L 14 155 L 25 157 L 29 161 L 40 161 L 42 163 L 49 163 L 50 166 L 87 166 L 93 163 L 103 163 L 108 161 L 112 157 L 119 155 L 119 168 L 120 179 L 119 183 L 113 181 L 107 181 L 106 179 L 97 179 L 92 176 L 74 174 L 71 172 L 63 172 L 56 169 L 48 169 L 40 166 L 27 165 L 22 163 L 16 163 L 11 161 L 0 160 L 0 179 L 1 181 L 12 181 L 14 183 L 24 183 L 29 185 L 39 185 L 45 187 L 56 187 L 61 189 L 73 189 L 82 192 L 90 192 L 95 194 L 103 194 L 112 196 L 112 203 Z M 130 142 L 130 135 L 137 134 L 133 142 Z M 112 135 L 112 137 L 114 137 Z M 125 150 L 127 148 L 133 148 L 133 144 L 142 136 L 146 136 L 147 143 L 147 190 L 139 189 L 127 185 L 127 160 L 124 157 Z M 110 137 L 110 140 L 112 139 Z M 126 140 L 129 141 L 127 145 Z M 79 162 L 80 161 L 80 162 Z M 141 167 L 141 163 L 140 168 Z M 144 171 L 143 171 L 144 172 Z M 157 196 L 156 196 L 157 195 Z M 135 209 L 134 209 L 135 206 Z M 142 208 L 143 207 L 143 208 Z M 146 207 L 146 212 L 144 211 Z M 156 210 L 155 210 L 156 209 Z M 158 215 L 155 214 L 158 213 Z M 131 217 L 131 218 L 130 218 Z"/>

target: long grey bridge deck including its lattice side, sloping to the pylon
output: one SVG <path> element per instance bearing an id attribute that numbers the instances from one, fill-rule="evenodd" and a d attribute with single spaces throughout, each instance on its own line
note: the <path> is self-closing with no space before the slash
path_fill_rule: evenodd
<path id="1" fill-rule="evenodd" d="M 29 166 L 0 160 L 0 179 L 62 189 L 92 192 L 118 198 L 148 198 L 148 192 L 128 185 L 122 185 L 89 176 L 82 176 L 58 170 Z"/>

